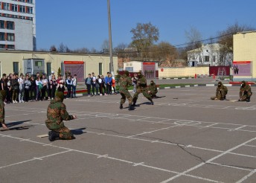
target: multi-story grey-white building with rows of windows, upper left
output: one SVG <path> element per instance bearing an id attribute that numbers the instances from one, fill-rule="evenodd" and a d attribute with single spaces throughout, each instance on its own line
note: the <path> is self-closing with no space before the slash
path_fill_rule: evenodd
<path id="1" fill-rule="evenodd" d="M 0 50 L 36 50 L 36 0 L 0 0 Z"/>

